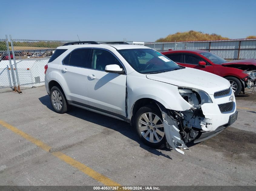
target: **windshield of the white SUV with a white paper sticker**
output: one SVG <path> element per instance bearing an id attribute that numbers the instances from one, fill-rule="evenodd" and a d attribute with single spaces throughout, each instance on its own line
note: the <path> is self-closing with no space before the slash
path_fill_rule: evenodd
<path id="1" fill-rule="evenodd" d="M 137 72 L 155 74 L 185 68 L 153 49 L 123 49 L 118 52 Z"/>

